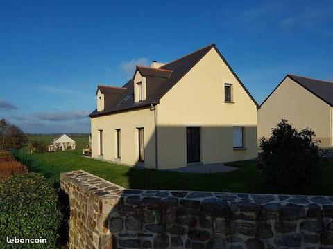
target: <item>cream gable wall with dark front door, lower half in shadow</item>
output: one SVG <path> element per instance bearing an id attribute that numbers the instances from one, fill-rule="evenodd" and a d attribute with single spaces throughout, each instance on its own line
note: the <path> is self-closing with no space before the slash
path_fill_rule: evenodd
<path id="1" fill-rule="evenodd" d="M 224 102 L 224 84 L 233 103 Z M 257 107 L 214 48 L 160 100 L 157 107 L 160 169 L 187 165 L 186 127 L 199 126 L 202 163 L 257 156 Z M 232 127 L 245 127 L 245 150 L 232 147 Z"/>

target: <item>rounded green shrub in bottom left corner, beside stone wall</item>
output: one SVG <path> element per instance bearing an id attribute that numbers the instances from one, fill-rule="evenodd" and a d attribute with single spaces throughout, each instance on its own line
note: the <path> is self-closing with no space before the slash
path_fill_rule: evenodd
<path id="1" fill-rule="evenodd" d="M 56 248 L 62 215 L 56 190 L 37 173 L 11 176 L 0 182 L 0 248 L 6 237 L 45 238 L 37 248 Z M 31 248 L 22 243 L 19 248 Z"/>

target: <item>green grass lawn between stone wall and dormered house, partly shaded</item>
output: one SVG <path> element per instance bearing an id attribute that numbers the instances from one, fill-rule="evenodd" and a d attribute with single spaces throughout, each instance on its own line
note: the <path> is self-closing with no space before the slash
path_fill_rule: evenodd
<path id="1" fill-rule="evenodd" d="M 214 174 L 164 172 L 155 169 L 135 169 L 80 156 L 81 151 L 60 151 L 44 154 L 16 153 L 17 158 L 35 172 L 42 172 L 51 183 L 58 183 L 59 174 L 76 169 L 100 176 L 128 188 L 163 190 L 200 190 L 219 192 L 248 192 L 275 194 L 333 195 L 333 160 L 323 170 L 318 186 L 307 193 L 282 193 L 266 186 L 255 172 L 253 161 L 228 163 L 239 167 L 234 172 Z"/>

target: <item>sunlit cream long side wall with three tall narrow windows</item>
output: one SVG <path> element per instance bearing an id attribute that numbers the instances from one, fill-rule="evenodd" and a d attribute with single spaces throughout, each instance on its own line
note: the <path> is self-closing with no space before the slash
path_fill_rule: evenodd
<path id="1" fill-rule="evenodd" d="M 155 167 L 154 111 L 149 108 L 92 118 L 92 157 L 136 165 L 139 150 L 137 128 L 141 127 L 144 127 L 144 167 Z M 115 129 L 121 129 L 121 160 L 117 158 Z M 99 155 L 99 130 L 103 130 L 103 156 Z"/>

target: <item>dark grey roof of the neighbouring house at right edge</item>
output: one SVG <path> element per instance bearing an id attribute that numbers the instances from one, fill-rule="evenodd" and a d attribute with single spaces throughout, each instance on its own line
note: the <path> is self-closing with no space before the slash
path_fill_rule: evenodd
<path id="1" fill-rule="evenodd" d="M 330 104 L 331 107 L 333 107 L 333 82 L 288 74 L 286 75 L 286 77 L 283 78 L 280 84 L 282 84 L 282 82 L 284 82 L 287 77 L 307 89 L 307 91 L 309 91 L 310 93 L 316 95 L 327 104 Z M 278 86 L 276 86 L 275 89 L 268 95 L 268 97 L 262 102 L 260 107 L 264 104 L 264 102 L 266 102 L 266 100 L 268 100 L 268 98 L 275 92 L 275 90 L 278 89 L 280 84 L 278 84 Z"/>

